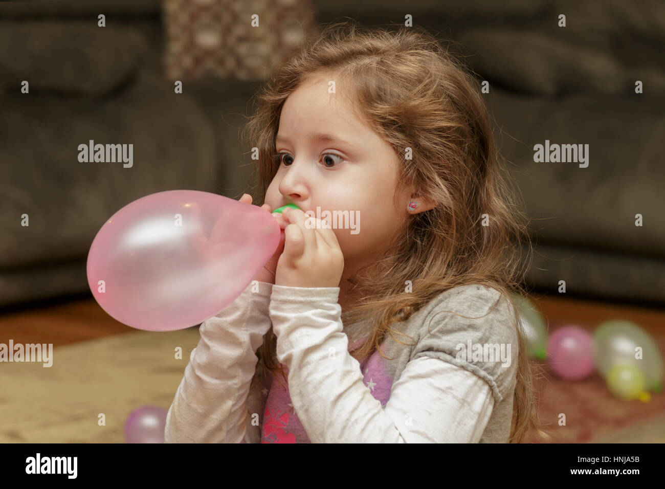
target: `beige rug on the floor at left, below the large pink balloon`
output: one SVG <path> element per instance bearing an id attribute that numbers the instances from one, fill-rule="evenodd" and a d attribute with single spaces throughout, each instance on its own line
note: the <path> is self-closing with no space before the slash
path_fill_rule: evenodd
<path id="1" fill-rule="evenodd" d="M 52 367 L 0 363 L 0 442 L 124 442 L 132 410 L 168 410 L 198 341 L 198 327 L 132 331 L 56 347 Z M 105 426 L 98 425 L 100 413 Z"/>

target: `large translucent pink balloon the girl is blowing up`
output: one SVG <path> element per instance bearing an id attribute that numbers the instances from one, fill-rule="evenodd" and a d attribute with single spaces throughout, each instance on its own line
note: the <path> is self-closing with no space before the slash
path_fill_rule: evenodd
<path id="1" fill-rule="evenodd" d="M 121 323 L 184 329 L 233 302 L 279 238 L 277 220 L 259 206 L 197 190 L 158 192 L 102 226 L 88 253 L 88 285 Z"/>

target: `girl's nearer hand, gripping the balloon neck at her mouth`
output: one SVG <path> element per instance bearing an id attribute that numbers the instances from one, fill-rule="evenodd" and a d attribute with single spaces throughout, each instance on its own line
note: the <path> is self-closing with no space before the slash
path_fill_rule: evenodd
<path id="1" fill-rule="evenodd" d="M 306 216 L 300 209 L 286 208 L 282 214 L 287 226 L 275 285 L 339 287 L 344 255 L 332 228 L 326 222 Z M 307 228 L 308 221 L 313 228 Z"/>

